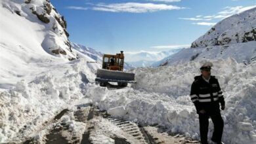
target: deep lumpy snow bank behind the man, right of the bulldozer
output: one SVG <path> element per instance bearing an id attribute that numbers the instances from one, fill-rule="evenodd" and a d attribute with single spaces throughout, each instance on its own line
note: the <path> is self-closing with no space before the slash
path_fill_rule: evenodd
<path id="1" fill-rule="evenodd" d="M 256 63 L 244 65 L 231 58 L 211 61 L 214 65 L 212 75 L 219 79 L 226 100 L 226 109 L 221 112 L 223 141 L 255 143 Z M 167 126 L 173 133 L 186 133 L 197 139 L 200 134 L 198 115 L 188 95 L 202 63 L 203 60 L 156 69 L 135 69 L 138 83 L 133 88 L 110 91 L 96 104 L 115 117 Z M 209 137 L 212 123 L 210 128 Z"/>

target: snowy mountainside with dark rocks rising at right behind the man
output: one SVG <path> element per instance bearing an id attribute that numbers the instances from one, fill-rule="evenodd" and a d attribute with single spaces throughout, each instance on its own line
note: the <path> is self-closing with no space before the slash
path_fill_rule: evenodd
<path id="1" fill-rule="evenodd" d="M 246 65 L 256 60 L 256 8 L 218 22 L 205 35 L 158 65 L 173 65 L 202 59 L 234 58 Z M 157 65 L 154 65 L 157 66 Z"/>

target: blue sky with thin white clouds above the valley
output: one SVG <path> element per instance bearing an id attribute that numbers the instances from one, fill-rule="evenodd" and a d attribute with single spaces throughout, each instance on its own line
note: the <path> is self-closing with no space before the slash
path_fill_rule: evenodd
<path id="1" fill-rule="evenodd" d="M 188 47 L 223 18 L 256 0 L 51 0 L 70 41 L 116 53 Z"/>

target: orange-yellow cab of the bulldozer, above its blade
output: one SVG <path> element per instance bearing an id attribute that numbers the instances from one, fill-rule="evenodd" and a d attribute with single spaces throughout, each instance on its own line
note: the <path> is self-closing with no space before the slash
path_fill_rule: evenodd
<path id="1" fill-rule="evenodd" d="M 123 62 L 124 62 L 123 51 L 121 53 L 112 55 L 104 54 L 102 69 L 109 69 L 113 71 L 123 71 Z"/>

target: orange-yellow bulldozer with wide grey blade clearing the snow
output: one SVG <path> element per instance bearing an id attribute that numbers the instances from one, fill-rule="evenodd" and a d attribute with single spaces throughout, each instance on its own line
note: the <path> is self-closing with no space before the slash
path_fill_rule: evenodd
<path id="1" fill-rule="evenodd" d="M 104 54 L 102 58 L 102 69 L 97 69 L 96 82 L 100 86 L 106 86 L 108 82 L 117 82 L 118 86 L 127 86 L 128 83 L 135 83 L 135 74 L 123 71 L 124 54 Z"/>

